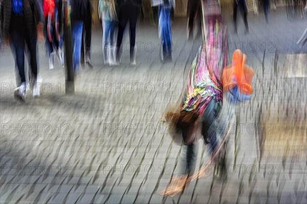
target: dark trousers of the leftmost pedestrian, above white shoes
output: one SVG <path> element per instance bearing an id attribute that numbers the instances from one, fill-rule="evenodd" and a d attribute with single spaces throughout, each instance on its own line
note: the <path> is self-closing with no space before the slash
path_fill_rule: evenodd
<path id="1" fill-rule="evenodd" d="M 37 61 L 36 61 L 36 43 L 37 34 L 32 32 L 27 34 L 26 31 L 10 31 L 11 41 L 12 41 L 12 53 L 15 57 L 15 63 L 18 67 L 19 77 L 21 83 L 26 82 L 25 75 L 25 51 L 30 52 L 30 66 L 34 79 L 37 78 Z M 25 50 L 25 42 L 27 43 L 28 49 Z"/>

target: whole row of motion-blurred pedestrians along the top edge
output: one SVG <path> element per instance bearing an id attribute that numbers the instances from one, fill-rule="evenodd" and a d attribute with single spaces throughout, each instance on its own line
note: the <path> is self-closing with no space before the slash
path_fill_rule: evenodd
<path id="1" fill-rule="evenodd" d="M 150 22 L 158 23 L 158 33 L 161 39 L 161 60 L 172 60 L 171 22 L 176 6 L 175 0 L 147 0 L 150 1 Z M 177 1 L 177 2 L 183 2 Z M 258 1 L 255 2 L 257 12 Z M 137 21 L 144 18 L 145 0 L 99 0 L 98 17 L 102 22 L 102 51 L 105 65 L 119 65 L 121 45 L 124 30 L 129 24 L 130 37 L 130 64 L 136 65 L 136 28 Z M 193 39 L 193 25 L 201 17 L 201 1 L 187 2 L 187 38 Z M 218 1 L 220 2 L 220 1 Z M 276 9 L 274 0 L 260 0 L 264 7 L 266 20 L 269 20 L 270 10 Z M 93 5 L 90 0 L 71 0 L 71 31 L 73 42 L 73 70 L 77 74 L 81 63 L 91 64 L 91 37 Z M 270 6 L 273 5 L 273 6 Z M 96 6 L 96 5 L 95 5 Z M 31 88 L 33 96 L 40 95 L 41 78 L 38 74 L 36 59 L 37 40 L 46 40 L 49 69 L 54 69 L 54 58 L 64 66 L 63 56 L 63 2 L 62 0 L 0 0 L 0 29 L 1 38 L 11 46 L 12 54 L 17 67 L 17 77 L 20 82 L 14 91 L 16 99 L 25 100 L 26 90 Z M 233 21 L 237 28 L 237 10 L 242 14 L 246 33 L 249 32 L 246 0 L 233 0 Z M 65 10 L 66 12 L 66 10 Z M 197 20 L 196 20 L 197 21 Z M 201 22 L 199 20 L 198 22 Z M 200 24 L 200 23 L 199 23 Z M 1 44 L 1 41 L 0 41 Z M 25 49 L 29 49 L 29 85 L 26 83 Z M 28 73 L 27 73 L 28 74 Z"/>

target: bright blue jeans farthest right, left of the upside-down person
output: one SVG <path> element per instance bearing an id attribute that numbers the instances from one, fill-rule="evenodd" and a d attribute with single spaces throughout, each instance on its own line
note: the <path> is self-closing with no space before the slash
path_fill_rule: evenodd
<path id="1" fill-rule="evenodd" d="M 159 36 L 162 38 L 163 53 L 166 56 L 170 56 L 172 52 L 170 10 L 170 7 L 159 6 Z"/>

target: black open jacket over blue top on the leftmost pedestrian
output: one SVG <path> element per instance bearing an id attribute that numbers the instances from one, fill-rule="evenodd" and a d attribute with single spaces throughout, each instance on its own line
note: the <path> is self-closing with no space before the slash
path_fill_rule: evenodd
<path id="1" fill-rule="evenodd" d="M 34 11 L 32 11 L 32 8 Z M 0 21 L 1 21 L 0 30 L 3 33 L 3 37 L 6 37 L 6 35 L 9 33 L 11 14 L 12 14 L 12 0 L 3 0 L 2 7 L 0 9 Z M 37 33 L 36 30 L 37 23 L 45 22 L 45 17 L 43 15 L 40 0 L 24 0 L 24 17 L 28 32 Z M 37 18 L 38 22 L 35 22 L 35 18 Z"/>

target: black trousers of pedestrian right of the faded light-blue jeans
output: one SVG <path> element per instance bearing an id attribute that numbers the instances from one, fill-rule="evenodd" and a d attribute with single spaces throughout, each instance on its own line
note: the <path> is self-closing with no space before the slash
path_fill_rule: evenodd
<path id="1" fill-rule="evenodd" d="M 130 25 L 130 51 L 131 48 L 134 48 L 136 44 L 136 28 L 137 28 L 137 19 L 138 19 L 139 8 L 134 5 L 125 4 L 120 8 L 119 11 L 119 28 L 117 34 L 117 43 L 116 46 L 120 47 L 123 40 L 124 30 L 127 22 L 129 21 Z"/>

